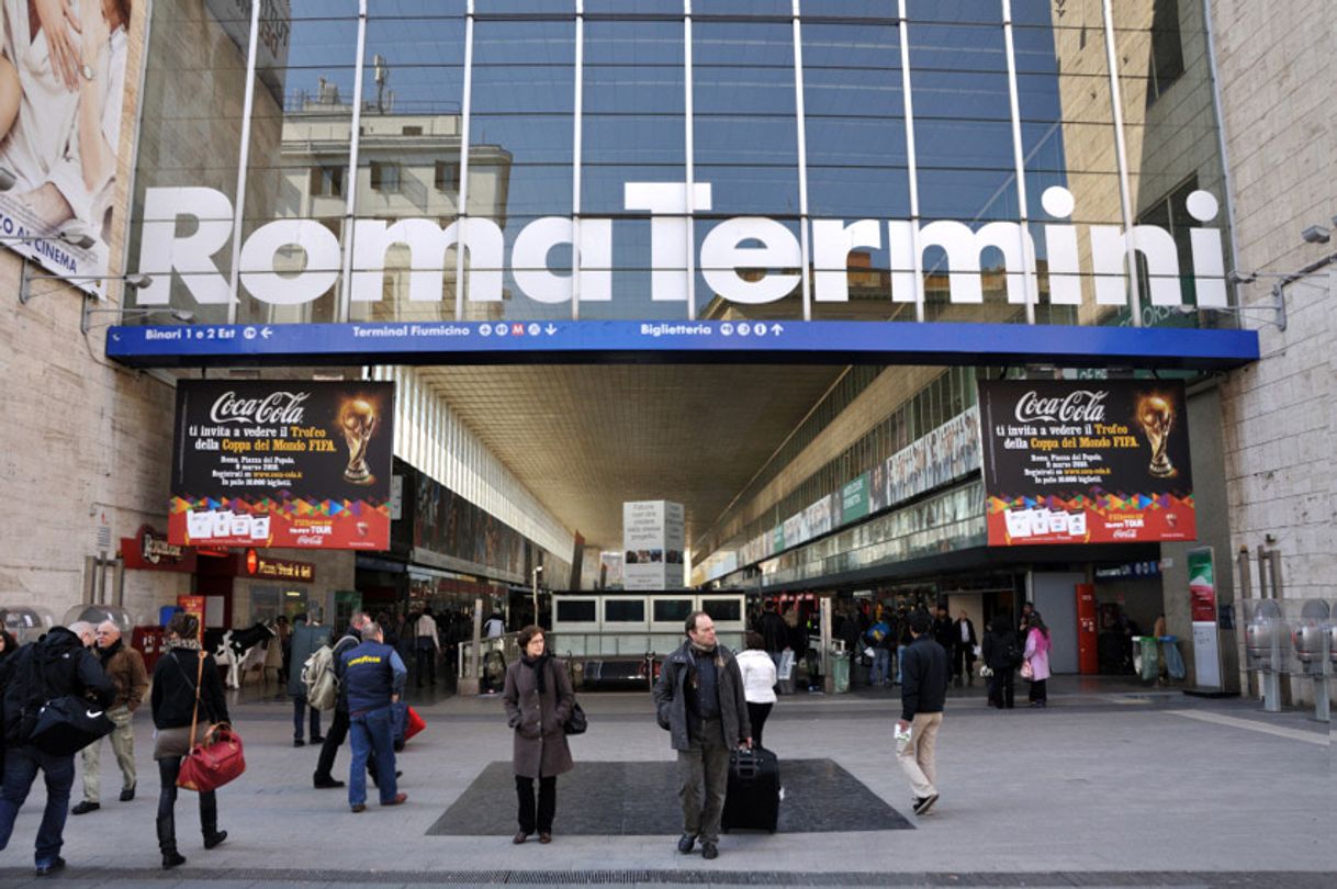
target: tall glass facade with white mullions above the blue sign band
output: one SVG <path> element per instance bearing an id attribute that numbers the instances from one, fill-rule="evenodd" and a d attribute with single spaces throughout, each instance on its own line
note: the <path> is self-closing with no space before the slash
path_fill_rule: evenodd
<path id="1" fill-rule="evenodd" d="M 1206 324 L 1230 266 L 1197 3 L 151 15 L 130 267 L 201 321 Z"/>

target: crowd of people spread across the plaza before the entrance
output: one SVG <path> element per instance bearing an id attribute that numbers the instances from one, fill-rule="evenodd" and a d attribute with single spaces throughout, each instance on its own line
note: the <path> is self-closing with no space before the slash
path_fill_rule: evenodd
<path id="1" fill-rule="evenodd" d="M 844 618 L 842 628 L 858 627 L 856 615 Z M 873 648 L 870 675 L 878 683 L 894 683 L 901 688 L 897 759 L 913 790 L 913 810 L 925 814 L 939 798 L 935 745 L 948 686 L 953 675 L 957 682 L 963 674 L 969 680 L 975 628 L 964 614 L 952 620 L 945 608 L 939 608 L 936 616 L 916 608 L 870 618 L 854 640 Z M 400 773 L 396 769 L 396 739 L 402 735 L 406 709 L 401 698 L 409 676 L 401 650 L 408 642 L 408 650 L 420 655 L 414 668 L 417 682 L 431 684 L 433 662 L 443 644 L 429 608 L 390 626 L 396 628 L 388 631 L 380 620 L 356 611 L 336 636 L 313 612 L 298 615 L 279 636 L 293 699 L 293 745 L 302 747 L 309 737 L 313 745 L 321 746 L 313 786 L 346 786 L 353 813 L 366 810 L 368 775 L 378 790 L 381 806 L 406 802 L 408 795 L 397 787 Z M 719 854 L 730 755 L 735 749 L 762 749 L 762 730 L 777 701 L 779 664 L 786 660 L 786 652 L 793 655 L 794 643 L 800 642 L 794 632 L 800 627 L 796 618 L 778 614 L 773 602 L 763 606 L 754 626 L 746 634 L 746 648 L 733 652 L 717 640 L 710 615 L 693 612 L 685 624 L 685 640 L 664 658 L 654 687 L 656 721 L 668 731 L 678 762 L 683 819 L 678 850 L 685 854 L 698 844 L 705 858 Z M 806 654 L 806 627 L 802 630 Z M 102 806 L 100 741 L 80 751 L 83 799 L 70 809 L 75 754 L 51 751 L 33 739 L 43 705 L 74 696 L 104 710 L 112 725 L 110 743 L 122 773 L 120 799 L 128 802 L 138 787 L 131 721 L 147 696 L 155 726 L 152 755 L 160 783 L 156 833 L 162 864 L 171 869 L 186 862 L 178 846 L 175 822 L 178 775 L 205 729 L 230 722 L 218 664 L 202 650 L 199 639 L 195 615 L 174 615 L 164 631 L 166 651 L 154 667 L 150 684 L 142 655 L 124 643 L 119 627 L 111 622 L 98 627 L 84 622 L 55 627 L 21 648 L 11 636 L 0 635 L 4 727 L 0 849 L 8 845 L 17 811 L 39 771 L 44 775 L 47 802 L 36 837 L 37 876 L 64 868 L 60 849 L 66 815 L 86 815 Z M 567 723 L 576 710 L 575 692 L 567 664 L 548 651 L 539 626 L 521 630 L 519 643 L 521 655 L 505 668 L 501 695 L 513 731 L 519 828 L 513 842 L 521 844 L 537 833 L 539 842 L 547 844 L 552 841 L 556 815 L 556 779 L 574 767 Z M 963 650 L 967 651 L 963 654 Z M 1032 706 L 1046 706 L 1050 634 L 1029 604 L 1019 627 L 1011 616 L 995 616 L 983 636 L 981 650 L 987 672 L 992 674 L 992 706 L 1013 706 L 1017 670 L 1029 680 Z M 325 705 L 333 705 L 333 714 L 324 734 L 321 709 L 316 706 L 320 695 L 313 691 L 318 686 L 314 674 L 321 668 L 322 654 L 336 690 Z M 352 749 L 348 782 L 333 773 L 345 739 Z M 227 832 L 218 826 L 217 794 L 201 791 L 198 801 L 203 848 L 213 849 L 227 838 Z"/>

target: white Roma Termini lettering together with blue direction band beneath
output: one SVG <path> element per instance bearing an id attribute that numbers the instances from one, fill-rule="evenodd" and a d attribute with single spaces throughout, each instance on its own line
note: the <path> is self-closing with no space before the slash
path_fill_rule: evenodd
<path id="1" fill-rule="evenodd" d="M 711 187 L 673 182 L 631 182 L 624 186 L 628 213 L 650 219 L 648 258 L 619 254 L 615 219 L 544 217 L 523 226 L 507 255 L 507 238 L 491 219 L 467 218 L 449 225 L 435 219 L 356 219 L 349 231 L 349 255 L 338 238 L 313 219 L 277 219 L 251 233 L 238 249 L 238 286 L 219 269 L 218 257 L 233 237 L 233 205 L 213 188 L 148 188 L 140 238 L 139 270 L 152 283 L 139 291 L 142 306 L 166 306 L 172 282 L 180 281 L 199 306 L 230 306 L 241 301 L 259 306 L 302 306 L 328 294 L 348 269 L 352 311 L 386 299 L 386 255 L 408 257 L 406 299 L 425 307 L 441 303 L 443 281 L 455 279 L 455 261 L 468 259 L 465 289 L 441 314 L 477 317 L 480 309 L 501 303 L 507 274 L 520 294 L 535 303 L 610 303 L 619 297 L 620 269 L 650 262 L 650 298 L 681 303 L 689 314 L 695 301 L 697 273 L 710 291 L 739 305 L 759 306 L 786 298 L 812 271 L 814 321 L 424 321 L 275 325 L 195 325 L 112 328 L 107 354 L 132 366 L 201 366 L 229 364 L 485 364 L 588 361 L 757 361 L 870 364 L 1016 364 L 1054 362 L 1072 366 L 1131 365 L 1147 368 L 1233 368 L 1258 357 L 1251 332 L 1183 329 L 1120 329 L 997 324 L 902 324 L 821 321 L 824 306 L 849 299 L 850 253 L 885 250 L 889 257 L 888 301 L 915 303 L 923 298 L 925 251 L 947 259 L 949 299 L 971 305 L 984 301 L 981 257 L 997 251 L 1005 263 L 1007 302 L 1035 303 L 1039 294 L 1035 234 L 1046 245 L 1046 299 L 1052 305 L 1083 302 L 1083 277 L 1094 281 L 1099 305 L 1127 306 L 1124 270 L 1140 255 L 1148 271 L 1148 310 L 1182 306 L 1179 253 L 1169 231 L 1158 226 L 1087 226 L 1079 246 L 1070 222 L 1072 194 L 1054 187 L 1043 202 L 1051 222 L 989 222 L 972 229 L 964 222 L 906 219 L 814 219 L 798 231 L 793 222 L 765 217 L 690 219 L 711 207 Z M 1211 222 L 1217 201 L 1195 191 L 1189 214 Z M 699 250 L 695 249 L 697 239 Z M 1221 233 L 1189 230 L 1197 306 L 1226 307 L 1227 293 Z M 575 258 L 574 274 L 550 266 L 550 255 Z M 295 249 L 295 250 L 294 250 Z M 456 249 L 456 258 L 448 251 Z M 626 247 L 623 250 L 630 250 Z M 293 263 L 291 255 L 305 259 Z M 1088 259 L 1079 259 L 1086 253 Z M 935 253 L 933 255 L 937 255 Z M 616 259 L 616 263 L 615 263 Z M 1088 267 L 1083 267 L 1088 266 Z M 404 269 L 402 263 L 398 263 Z M 358 307 L 364 306 L 364 307 Z M 180 306 L 178 306 L 180 307 Z M 472 310 L 471 310 L 472 307 Z M 255 317 L 254 305 L 245 317 Z M 495 305 L 496 313 L 501 309 Z M 516 299 L 507 314 L 523 314 Z M 1191 310 L 1191 307 L 1190 307 Z M 263 309 L 261 314 L 263 314 Z M 461 314 L 463 311 L 463 314 Z M 551 311 L 547 310 L 547 311 Z M 667 305 L 655 314 L 667 314 Z M 602 311 L 607 314 L 607 309 Z M 890 311 L 888 313 L 890 314 Z"/>

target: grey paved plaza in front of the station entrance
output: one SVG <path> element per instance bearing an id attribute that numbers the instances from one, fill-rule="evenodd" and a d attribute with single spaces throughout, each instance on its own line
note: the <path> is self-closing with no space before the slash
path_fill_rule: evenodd
<path id="1" fill-rule="evenodd" d="M 511 751 L 500 699 L 420 702 L 428 730 L 400 757 L 408 805 L 352 814 L 342 790 L 312 787 L 316 749 L 291 746 L 290 705 L 247 688 L 233 715 L 249 770 L 219 791 L 227 842 L 201 848 L 195 801 L 183 793 L 176 817 L 189 864 L 159 869 L 158 775 L 142 713 L 138 798 L 120 803 L 106 793 L 119 775 L 104 755 L 103 807 L 70 818 L 70 868 L 60 880 L 215 888 L 1337 885 L 1329 726 L 1298 711 L 1263 714 L 1250 701 L 1062 678 L 1054 686 L 1048 710 L 1021 702 L 1009 713 L 988 709 L 979 688 L 953 690 L 939 742 L 943 795 L 923 818 L 910 813 L 892 753 L 892 692 L 782 698 L 766 726 L 767 746 L 782 765 L 830 765 L 796 766 L 783 803 L 793 811 L 779 832 L 726 834 L 715 861 L 679 854 L 677 833 L 664 830 L 675 822 L 677 799 L 659 785 L 673 753 L 648 694 L 582 695 L 591 727 L 572 739 L 582 770 L 559 779 L 555 840 L 513 846 L 513 794 L 505 793 L 505 766 L 496 765 Z M 345 746 L 336 766 L 344 778 L 348 757 Z M 829 779 L 814 778 L 813 769 Z M 610 786 L 627 775 L 646 789 Z M 39 782 L 0 861 L 3 885 L 33 881 L 41 802 Z M 654 832 L 632 829 L 636 810 Z M 591 833 L 599 825 L 615 826 Z"/>

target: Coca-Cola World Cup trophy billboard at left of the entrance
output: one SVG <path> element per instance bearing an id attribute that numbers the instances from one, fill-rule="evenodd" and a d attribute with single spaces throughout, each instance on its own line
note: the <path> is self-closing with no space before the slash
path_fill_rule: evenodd
<path id="1" fill-rule="evenodd" d="M 394 384 L 182 380 L 167 536 L 386 549 Z"/>

